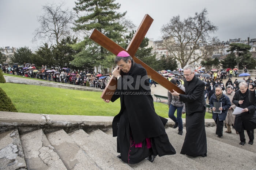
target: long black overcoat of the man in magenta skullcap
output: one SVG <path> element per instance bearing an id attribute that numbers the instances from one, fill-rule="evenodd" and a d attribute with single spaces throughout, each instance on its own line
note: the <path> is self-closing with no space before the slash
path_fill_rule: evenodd
<path id="1" fill-rule="evenodd" d="M 147 71 L 140 64 L 132 62 L 130 71 L 126 74 L 133 77 L 131 86 L 124 87 L 128 84 L 129 79 L 125 76 L 117 81 L 117 89 L 111 98 L 114 102 L 120 98 L 121 110 L 113 119 L 113 137 L 117 136 L 117 125 L 123 112 L 128 113 L 129 125 L 135 143 L 140 143 L 146 138 L 158 137 L 164 135 L 167 119 L 158 116 L 155 112 L 153 97 L 149 81 L 147 78 Z M 141 79 L 145 79 L 147 89 L 142 87 L 139 83 Z M 139 94 L 141 93 L 141 94 Z M 142 94 L 144 93 L 144 94 Z"/>

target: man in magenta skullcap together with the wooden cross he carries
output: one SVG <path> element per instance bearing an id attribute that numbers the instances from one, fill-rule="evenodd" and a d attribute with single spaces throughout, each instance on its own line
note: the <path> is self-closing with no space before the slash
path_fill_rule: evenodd
<path id="1" fill-rule="evenodd" d="M 114 84 L 116 87 L 112 89 L 106 87 L 113 93 L 103 91 L 101 97 L 106 103 L 120 98 L 121 110 L 113 119 L 112 130 L 113 137 L 117 136 L 117 152 L 120 153 L 117 157 L 126 163 L 138 163 L 145 158 L 153 162 L 157 155 L 176 154 L 165 132 L 167 119 L 155 112 L 147 78 L 148 72 L 154 74 L 155 71 L 134 56 L 152 22 L 149 15 L 144 17 L 127 50 L 98 31 L 94 30 L 90 35 L 91 39 L 116 55 L 117 68 L 112 72 L 112 80 L 117 86 Z M 157 73 L 153 79 L 159 83 L 161 77 Z"/>

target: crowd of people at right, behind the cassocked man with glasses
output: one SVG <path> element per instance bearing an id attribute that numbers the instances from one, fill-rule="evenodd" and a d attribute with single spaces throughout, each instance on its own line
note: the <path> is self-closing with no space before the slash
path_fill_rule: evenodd
<path id="1" fill-rule="evenodd" d="M 230 134 L 232 126 L 236 130 L 236 134 L 240 135 L 240 145 L 245 144 L 244 130 L 246 130 L 249 137 L 248 143 L 252 145 L 254 129 L 256 128 L 256 103 L 253 98 L 256 97 L 256 78 L 253 80 L 251 76 L 249 76 L 246 79 L 235 79 L 234 82 L 232 82 L 232 75 L 227 74 L 229 79 L 224 84 L 221 78 L 225 78 L 225 76 L 219 75 L 217 72 L 208 72 L 208 74 L 212 76 L 204 76 L 199 72 L 191 72 L 191 74 L 194 74 L 198 79 L 204 82 L 204 100 L 206 102 L 208 98 L 208 104 L 212 110 L 212 119 L 214 119 L 216 123 L 217 137 L 223 137 L 223 126 L 225 124 L 227 128 L 225 133 Z M 176 78 L 170 78 L 169 75 L 167 75 L 167 78 L 170 79 L 170 82 L 176 84 L 176 86 L 178 86 L 178 84 L 183 86 L 184 75 L 185 74 L 180 73 L 180 76 Z M 186 91 L 186 89 L 183 91 Z M 249 94 L 251 97 L 249 97 Z M 251 98 L 251 100 L 249 98 Z M 220 105 L 217 103 L 220 103 Z M 180 96 L 172 96 L 172 92 L 169 91 L 168 105 L 169 117 L 175 122 L 173 127 L 178 127 L 178 134 L 182 135 L 181 115 L 185 112 L 183 109 L 186 107 L 185 102 L 180 99 Z M 242 111 L 240 114 L 234 115 L 233 112 L 236 107 L 240 107 Z M 177 118 L 173 115 L 176 109 Z"/>

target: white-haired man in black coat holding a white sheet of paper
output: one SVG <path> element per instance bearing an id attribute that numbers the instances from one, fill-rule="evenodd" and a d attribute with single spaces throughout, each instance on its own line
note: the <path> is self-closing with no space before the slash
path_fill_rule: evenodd
<path id="1" fill-rule="evenodd" d="M 255 113 L 255 102 L 249 100 L 249 90 L 248 85 L 246 82 L 241 82 L 239 84 L 239 90 L 236 91 L 232 102 L 236 104 L 237 107 L 243 108 L 241 114 L 237 114 L 235 118 L 234 128 L 238 131 L 240 136 L 240 143 L 239 145 L 245 144 L 245 135 L 244 130 L 247 131 L 249 142 L 248 144 L 253 144 L 254 139 L 254 129 L 255 126 L 251 121 L 253 114 Z"/>

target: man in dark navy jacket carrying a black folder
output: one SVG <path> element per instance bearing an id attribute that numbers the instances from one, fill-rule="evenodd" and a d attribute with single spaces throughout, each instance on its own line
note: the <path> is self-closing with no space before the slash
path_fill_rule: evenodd
<path id="1" fill-rule="evenodd" d="M 216 123 L 216 135 L 222 138 L 223 135 L 223 121 L 226 119 L 227 111 L 231 106 L 229 97 L 223 94 L 221 87 L 215 87 L 215 94 L 211 96 L 209 105 L 212 109 L 212 119 Z M 216 108 L 218 106 L 218 108 Z M 219 107 L 220 106 L 220 107 Z"/>

